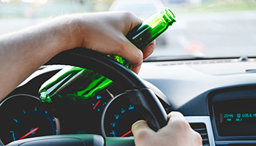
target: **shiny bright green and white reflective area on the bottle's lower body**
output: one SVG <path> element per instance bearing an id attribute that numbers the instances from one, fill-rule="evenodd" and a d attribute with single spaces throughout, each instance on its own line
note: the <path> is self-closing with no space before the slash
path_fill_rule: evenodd
<path id="1" fill-rule="evenodd" d="M 112 80 L 89 69 L 66 66 L 46 81 L 39 89 L 42 102 L 58 102 L 58 99 L 71 99 L 70 102 L 83 101 L 105 91 Z"/>

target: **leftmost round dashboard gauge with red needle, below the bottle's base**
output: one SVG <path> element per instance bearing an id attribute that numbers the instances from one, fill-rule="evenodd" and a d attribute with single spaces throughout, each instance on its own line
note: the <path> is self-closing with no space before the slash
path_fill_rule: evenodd
<path id="1" fill-rule="evenodd" d="M 53 118 L 34 96 L 10 96 L 0 104 L 0 139 L 4 145 L 30 137 L 55 135 L 59 120 Z M 58 125 L 58 126 L 57 126 Z"/>

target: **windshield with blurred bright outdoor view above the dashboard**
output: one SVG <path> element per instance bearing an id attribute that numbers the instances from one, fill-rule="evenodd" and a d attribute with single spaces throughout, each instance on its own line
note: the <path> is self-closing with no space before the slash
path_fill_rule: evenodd
<path id="1" fill-rule="evenodd" d="M 146 20 L 165 7 L 177 22 L 148 60 L 256 56 L 256 0 L 0 0 L 0 35 L 58 15 L 129 10 Z"/>

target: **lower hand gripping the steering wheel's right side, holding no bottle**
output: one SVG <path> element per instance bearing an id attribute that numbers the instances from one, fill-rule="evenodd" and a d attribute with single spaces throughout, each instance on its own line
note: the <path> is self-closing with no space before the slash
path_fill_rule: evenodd
<path id="1" fill-rule="evenodd" d="M 167 126 L 155 132 L 145 120 L 132 125 L 132 134 L 137 146 L 198 146 L 202 145 L 200 134 L 195 132 L 180 112 L 170 112 Z"/>

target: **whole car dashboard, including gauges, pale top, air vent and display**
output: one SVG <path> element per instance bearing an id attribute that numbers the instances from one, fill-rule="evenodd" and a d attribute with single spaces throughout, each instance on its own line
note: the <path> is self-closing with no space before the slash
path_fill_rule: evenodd
<path id="1" fill-rule="evenodd" d="M 56 134 L 132 137 L 143 119 L 118 85 L 56 118 L 39 101 L 40 86 L 64 66 L 42 66 L 0 104 L 0 139 Z M 144 62 L 139 76 L 167 112 L 179 111 L 203 137 L 203 145 L 256 145 L 256 59 Z M 8 111 L 8 112 L 7 112 Z M 63 115 L 66 115 L 66 112 Z"/>

